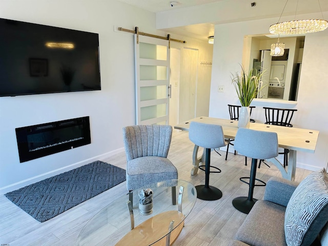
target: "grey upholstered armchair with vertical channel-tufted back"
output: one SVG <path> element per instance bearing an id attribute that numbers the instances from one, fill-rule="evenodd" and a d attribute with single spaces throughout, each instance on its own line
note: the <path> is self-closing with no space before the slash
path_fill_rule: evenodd
<path id="1" fill-rule="evenodd" d="M 171 138 L 171 126 L 139 125 L 123 128 L 127 155 L 127 189 L 131 203 L 131 191 L 149 183 L 178 178 L 177 169 L 167 158 Z M 172 202 L 175 202 L 175 187 L 172 188 Z"/>

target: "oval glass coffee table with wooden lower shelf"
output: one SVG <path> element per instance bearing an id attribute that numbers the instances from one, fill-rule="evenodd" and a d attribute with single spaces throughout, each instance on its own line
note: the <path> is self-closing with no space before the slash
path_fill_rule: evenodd
<path id="1" fill-rule="evenodd" d="M 152 213 L 141 215 L 138 193 L 147 188 L 153 190 Z M 81 230 L 76 245 L 171 245 L 196 198 L 196 189 L 190 182 L 174 179 L 151 183 L 133 191 L 133 208 L 129 194 L 125 194 L 101 209 Z"/>

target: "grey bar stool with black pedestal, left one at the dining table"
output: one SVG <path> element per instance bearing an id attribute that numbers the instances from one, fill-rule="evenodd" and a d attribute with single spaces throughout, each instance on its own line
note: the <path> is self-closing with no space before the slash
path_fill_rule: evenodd
<path id="1" fill-rule="evenodd" d="M 210 186 L 210 162 L 211 149 L 228 145 L 229 141 L 224 139 L 222 127 L 219 125 L 204 124 L 192 121 L 189 128 L 189 139 L 197 146 L 206 149 L 205 158 L 205 185 L 196 186 L 197 198 L 202 200 L 217 200 L 222 197 L 222 192 L 216 187 Z M 201 166 L 200 166 L 201 167 Z M 215 173 L 221 172 L 217 169 Z M 203 170 L 203 169 L 201 169 Z"/>

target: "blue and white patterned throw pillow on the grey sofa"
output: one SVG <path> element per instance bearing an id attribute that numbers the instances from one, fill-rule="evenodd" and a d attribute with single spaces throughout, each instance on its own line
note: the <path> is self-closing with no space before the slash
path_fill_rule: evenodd
<path id="1" fill-rule="evenodd" d="M 300 182 L 289 200 L 284 221 L 288 246 L 305 246 L 328 221 L 328 175 L 323 168 Z"/>

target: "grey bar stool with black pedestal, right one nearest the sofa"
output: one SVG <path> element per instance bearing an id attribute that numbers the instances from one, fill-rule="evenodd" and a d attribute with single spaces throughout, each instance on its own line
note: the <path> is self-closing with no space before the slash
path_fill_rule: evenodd
<path id="1" fill-rule="evenodd" d="M 253 198 L 257 160 L 278 156 L 278 136 L 275 132 L 239 128 L 235 137 L 234 147 L 239 154 L 252 158 L 248 197 L 237 197 L 232 201 L 233 206 L 237 210 L 248 214 L 257 201 L 257 199 Z"/>

